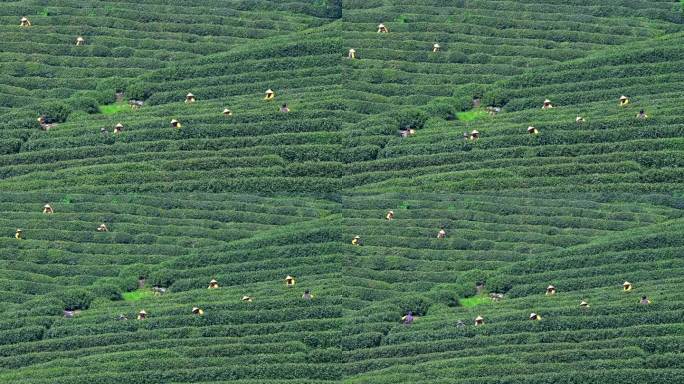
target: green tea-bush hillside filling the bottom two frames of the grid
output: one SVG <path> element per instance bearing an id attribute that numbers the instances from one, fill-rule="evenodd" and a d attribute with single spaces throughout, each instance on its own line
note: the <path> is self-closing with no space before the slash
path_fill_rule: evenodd
<path id="1" fill-rule="evenodd" d="M 681 210 L 655 196 L 492 197 L 52 195 L 55 213 L 45 216 L 30 212 L 46 196 L 15 195 L 3 232 L 33 218 L 21 222 L 20 244 L 3 240 L 0 378 L 522 383 L 579 366 L 591 382 L 607 372 L 639 382 L 681 374 L 672 366 L 682 341 L 672 290 L 683 283 Z M 111 232 L 96 233 L 91 223 L 103 218 Z M 440 227 L 446 239 L 434 238 Z M 350 245 L 359 233 L 364 245 Z M 295 288 L 284 286 L 287 274 Z M 139 275 L 171 293 L 110 301 Z M 220 289 L 207 290 L 211 278 Z M 549 284 L 555 296 L 544 295 Z M 301 300 L 304 289 L 313 301 Z M 506 293 L 491 302 L 484 292 Z M 653 304 L 639 305 L 641 295 Z M 60 303 L 84 302 L 60 318 Z M 149 319 L 133 320 L 141 309 Z M 410 327 L 398 322 L 407 310 L 419 316 Z M 529 322 L 530 312 L 543 320 Z M 486 323 L 474 327 L 480 315 Z"/>

